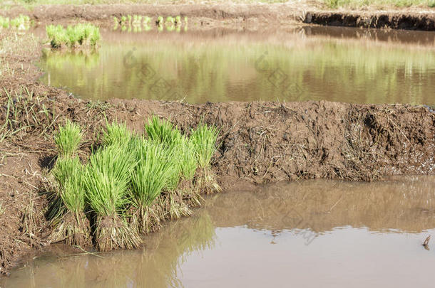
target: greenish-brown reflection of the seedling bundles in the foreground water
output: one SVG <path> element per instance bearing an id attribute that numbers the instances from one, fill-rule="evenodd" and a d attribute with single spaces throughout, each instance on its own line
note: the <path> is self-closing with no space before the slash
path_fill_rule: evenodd
<path id="1" fill-rule="evenodd" d="M 183 287 L 180 265 L 192 252 L 212 249 L 215 228 L 205 210 L 191 218 L 168 223 L 145 238 L 143 251 L 60 258 L 48 264 L 31 263 L 6 282 L 11 287 Z M 19 283 L 17 284 L 18 281 Z M 33 283 L 33 284 L 32 284 Z"/>

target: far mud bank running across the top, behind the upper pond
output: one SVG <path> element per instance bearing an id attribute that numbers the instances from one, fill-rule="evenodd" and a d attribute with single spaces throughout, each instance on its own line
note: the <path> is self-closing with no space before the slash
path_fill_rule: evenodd
<path id="1" fill-rule="evenodd" d="M 325 11 L 313 4 L 113 4 L 113 5 L 44 5 L 28 11 L 14 6 L 0 15 L 27 14 L 39 22 L 112 21 L 113 16 L 140 14 L 148 16 L 188 16 L 198 26 L 231 26 L 243 29 L 258 29 L 285 23 L 314 23 L 326 26 L 349 26 L 362 28 L 392 28 L 407 30 L 435 30 L 435 12 L 432 9 L 399 9 L 387 11 Z"/>

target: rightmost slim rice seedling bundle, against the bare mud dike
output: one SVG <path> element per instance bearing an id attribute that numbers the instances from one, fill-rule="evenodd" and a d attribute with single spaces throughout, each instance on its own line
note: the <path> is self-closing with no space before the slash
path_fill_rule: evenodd
<path id="1" fill-rule="evenodd" d="M 216 183 L 215 175 L 210 167 L 211 159 L 216 151 L 218 134 L 219 131 L 216 127 L 208 127 L 207 124 L 202 123 L 190 134 L 190 141 L 195 148 L 199 166 L 195 184 L 201 193 L 220 191 L 220 186 Z"/>

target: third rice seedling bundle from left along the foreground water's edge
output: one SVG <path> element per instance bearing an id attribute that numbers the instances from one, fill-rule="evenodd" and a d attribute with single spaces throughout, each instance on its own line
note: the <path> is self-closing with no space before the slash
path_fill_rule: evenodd
<path id="1" fill-rule="evenodd" d="M 140 233 L 157 230 L 160 215 L 153 206 L 160 196 L 173 167 L 169 151 L 159 142 L 142 139 L 135 143 L 136 164 L 131 176 L 131 198 L 133 199 L 133 223 Z"/>

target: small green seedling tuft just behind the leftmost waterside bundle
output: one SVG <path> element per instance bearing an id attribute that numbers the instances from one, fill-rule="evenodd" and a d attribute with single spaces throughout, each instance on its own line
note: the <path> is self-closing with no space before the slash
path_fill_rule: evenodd
<path id="1" fill-rule="evenodd" d="M 54 138 L 60 157 L 73 157 L 76 155 L 78 144 L 83 134 L 78 124 L 67 120 L 65 126 L 59 127 L 59 132 Z"/>

